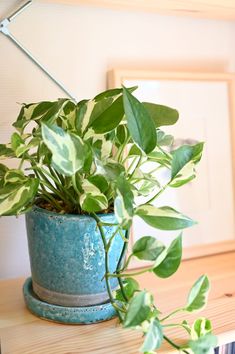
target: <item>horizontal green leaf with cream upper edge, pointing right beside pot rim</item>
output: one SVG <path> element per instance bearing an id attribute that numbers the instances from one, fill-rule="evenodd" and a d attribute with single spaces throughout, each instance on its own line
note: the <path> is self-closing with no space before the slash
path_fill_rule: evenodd
<path id="1" fill-rule="evenodd" d="M 159 230 L 182 230 L 195 224 L 195 221 L 170 207 L 157 208 L 152 205 L 141 205 L 136 209 L 147 224 Z"/>

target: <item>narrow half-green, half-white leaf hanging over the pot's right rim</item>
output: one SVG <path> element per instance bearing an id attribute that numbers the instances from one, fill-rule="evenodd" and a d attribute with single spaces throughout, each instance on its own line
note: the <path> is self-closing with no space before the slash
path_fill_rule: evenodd
<path id="1" fill-rule="evenodd" d="M 134 214 L 134 194 L 130 183 L 122 176 L 116 181 L 116 198 L 114 200 L 115 216 L 124 227 L 130 226 Z"/>

